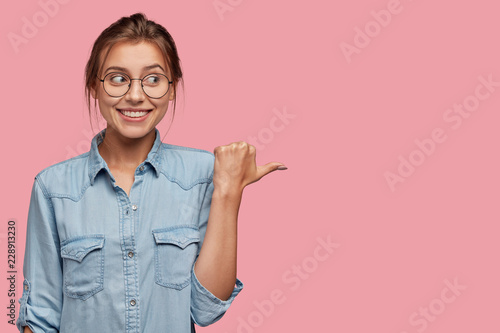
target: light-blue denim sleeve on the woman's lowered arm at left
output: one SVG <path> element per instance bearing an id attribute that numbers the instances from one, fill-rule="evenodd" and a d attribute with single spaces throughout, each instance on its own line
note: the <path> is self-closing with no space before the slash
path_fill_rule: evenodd
<path id="1" fill-rule="evenodd" d="M 17 328 L 58 332 L 62 308 L 62 261 L 54 209 L 42 181 L 31 191 L 23 265 L 23 294 Z"/>

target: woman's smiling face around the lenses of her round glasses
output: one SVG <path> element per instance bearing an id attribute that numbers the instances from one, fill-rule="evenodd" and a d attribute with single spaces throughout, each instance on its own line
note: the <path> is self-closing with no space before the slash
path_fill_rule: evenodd
<path id="1" fill-rule="evenodd" d="M 103 64 L 100 78 L 110 72 L 121 72 L 132 79 L 142 79 L 148 74 L 162 73 L 169 80 L 171 75 L 160 49 L 151 43 L 115 44 Z M 115 79 L 115 80 L 119 80 Z M 99 109 L 107 122 L 106 134 L 138 139 L 146 136 L 165 116 L 169 101 L 174 99 L 174 87 L 170 85 L 168 93 L 153 99 L 144 93 L 141 81 L 132 80 L 129 91 L 121 97 L 111 97 L 104 91 L 102 82 L 98 82 L 97 94 L 92 97 L 99 101 Z"/>

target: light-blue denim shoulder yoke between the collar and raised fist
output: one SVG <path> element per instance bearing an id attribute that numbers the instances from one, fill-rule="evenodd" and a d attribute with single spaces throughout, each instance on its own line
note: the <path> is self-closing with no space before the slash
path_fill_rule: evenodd
<path id="1" fill-rule="evenodd" d="M 207 150 L 162 143 L 160 156 L 161 173 L 184 189 L 212 181 L 215 156 Z"/>

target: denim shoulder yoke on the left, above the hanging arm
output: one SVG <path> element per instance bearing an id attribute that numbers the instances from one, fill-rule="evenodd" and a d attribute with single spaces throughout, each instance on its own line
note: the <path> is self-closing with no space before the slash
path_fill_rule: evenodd
<path id="1" fill-rule="evenodd" d="M 76 197 L 90 185 L 88 173 L 89 152 L 48 166 L 35 179 L 49 197 Z"/>

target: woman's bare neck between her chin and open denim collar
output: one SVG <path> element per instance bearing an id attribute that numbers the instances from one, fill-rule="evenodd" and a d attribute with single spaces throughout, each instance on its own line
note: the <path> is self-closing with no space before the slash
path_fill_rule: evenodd
<path id="1" fill-rule="evenodd" d="M 103 141 L 97 147 L 110 168 L 134 169 L 144 162 L 153 147 L 156 131 L 153 128 L 142 138 L 127 138 L 107 127 Z"/>

